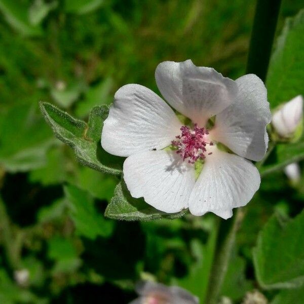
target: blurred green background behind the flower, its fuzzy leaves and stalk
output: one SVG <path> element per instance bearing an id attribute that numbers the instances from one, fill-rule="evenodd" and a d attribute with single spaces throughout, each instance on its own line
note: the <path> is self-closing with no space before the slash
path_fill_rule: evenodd
<path id="1" fill-rule="evenodd" d="M 118 179 L 78 164 L 38 102 L 87 120 L 124 84 L 158 92 L 154 71 L 164 60 L 190 58 L 236 79 L 245 72 L 254 6 L 0 0 L 0 303 L 127 303 L 136 297 L 134 282 L 151 277 L 200 292 L 215 218 L 105 219 Z M 302 6 L 283 1 L 278 33 Z M 294 189 L 283 173 L 263 180 L 222 295 L 238 303 L 258 288 L 252 263 L 258 231 L 274 210 L 292 216 L 303 202 L 304 187 Z M 275 293 L 265 291 L 270 299 Z"/>

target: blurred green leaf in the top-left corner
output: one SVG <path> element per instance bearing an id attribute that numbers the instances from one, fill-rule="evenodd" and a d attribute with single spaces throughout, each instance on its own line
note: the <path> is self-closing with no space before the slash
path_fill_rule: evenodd
<path id="1" fill-rule="evenodd" d="M 29 22 L 27 7 L 18 0 L 0 0 L 0 11 L 7 22 L 25 36 L 37 36 L 42 34 L 40 26 Z"/>

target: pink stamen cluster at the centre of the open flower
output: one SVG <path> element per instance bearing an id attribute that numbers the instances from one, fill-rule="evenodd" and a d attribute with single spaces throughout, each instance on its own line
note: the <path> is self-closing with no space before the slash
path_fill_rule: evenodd
<path id="1" fill-rule="evenodd" d="M 182 126 L 180 130 L 181 135 L 176 136 L 176 140 L 172 140 L 172 145 L 177 148 L 176 153 L 182 157 L 183 161 L 188 158 L 188 163 L 191 164 L 199 159 L 204 160 L 206 145 L 213 145 L 213 142 L 206 141 L 209 130 L 199 128 L 197 124 L 194 125 L 193 130 L 187 126 Z"/>

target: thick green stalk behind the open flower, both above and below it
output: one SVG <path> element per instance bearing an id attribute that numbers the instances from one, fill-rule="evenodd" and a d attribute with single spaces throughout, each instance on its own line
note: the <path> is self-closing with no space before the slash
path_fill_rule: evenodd
<path id="1" fill-rule="evenodd" d="M 256 74 L 265 81 L 281 0 L 257 0 L 251 33 L 246 73 Z M 216 304 L 235 244 L 236 233 L 244 217 L 238 209 L 232 218 L 219 221 L 215 256 L 209 276 L 205 304 Z"/>

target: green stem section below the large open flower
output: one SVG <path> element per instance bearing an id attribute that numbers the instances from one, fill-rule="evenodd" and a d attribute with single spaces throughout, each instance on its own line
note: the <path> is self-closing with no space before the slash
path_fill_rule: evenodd
<path id="1" fill-rule="evenodd" d="M 217 303 L 217 297 L 227 271 L 231 251 L 235 243 L 236 232 L 244 217 L 244 210 L 239 208 L 230 219 L 220 219 L 216 244 L 216 253 L 209 277 L 206 304 Z"/>

